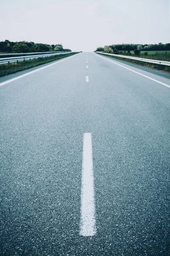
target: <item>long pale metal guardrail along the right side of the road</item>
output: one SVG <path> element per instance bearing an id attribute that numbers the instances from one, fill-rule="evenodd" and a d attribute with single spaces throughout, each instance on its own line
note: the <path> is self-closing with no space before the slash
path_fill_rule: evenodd
<path id="1" fill-rule="evenodd" d="M 112 54 L 112 53 L 106 53 L 106 52 L 97 52 L 97 53 L 101 53 L 101 54 L 105 54 L 105 55 L 111 55 L 111 56 L 120 57 L 120 58 L 128 58 L 128 59 L 132 59 L 132 60 L 136 60 L 136 61 L 144 61 L 144 62 L 149 62 L 149 63 L 154 63 L 154 64 L 170 66 L 170 61 L 158 61 L 158 60 L 153 60 L 153 59 L 138 58 L 138 57 Z"/>

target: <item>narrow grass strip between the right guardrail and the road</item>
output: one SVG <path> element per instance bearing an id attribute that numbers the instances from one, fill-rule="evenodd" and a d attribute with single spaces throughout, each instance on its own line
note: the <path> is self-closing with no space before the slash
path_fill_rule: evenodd
<path id="1" fill-rule="evenodd" d="M 99 54 L 101 54 L 101 53 L 99 53 Z M 103 55 L 103 54 L 101 54 L 101 55 Z M 111 58 L 117 58 L 117 59 L 122 60 L 122 61 L 128 61 L 128 62 L 139 64 L 139 65 L 142 65 L 142 66 L 152 67 L 152 68 L 155 68 L 157 70 L 164 70 L 164 71 L 170 72 L 170 66 L 165 66 L 165 65 L 160 65 L 160 64 L 153 64 L 153 63 L 143 62 L 143 61 L 136 61 L 136 60 L 127 59 L 127 58 L 120 58 L 120 57 L 106 55 L 106 54 L 105 54 L 105 56 L 108 56 L 108 57 L 111 57 Z M 135 56 L 135 57 L 141 58 L 140 56 Z"/>

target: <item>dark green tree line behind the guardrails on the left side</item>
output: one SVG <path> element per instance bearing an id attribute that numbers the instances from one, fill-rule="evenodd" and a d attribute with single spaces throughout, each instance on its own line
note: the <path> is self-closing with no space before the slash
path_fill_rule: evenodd
<path id="1" fill-rule="evenodd" d="M 63 49 L 62 44 L 36 44 L 34 42 L 0 42 L 0 52 L 26 53 L 26 52 L 71 52 L 71 49 Z"/>

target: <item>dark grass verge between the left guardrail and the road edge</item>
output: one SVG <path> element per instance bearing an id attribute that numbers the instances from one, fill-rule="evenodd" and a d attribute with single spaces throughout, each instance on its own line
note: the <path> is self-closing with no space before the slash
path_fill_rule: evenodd
<path id="1" fill-rule="evenodd" d="M 18 61 L 17 62 L 11 62 L 9 65 L 8 63 L 6 64 L 0 64 L 0 77 L 10 75 L 13 73 L 17 73 L 18 71 L 26 70 L 31 67 L 36 67 L 51 61 L 56 61 L 60 58 L 65 58 L 76 53 L 68 53 L 65 55 L 55 55 L 55 56 L 50 56 L 50 57 L 45 57 L 45 58 L 37 58 L 37 59 L 31 59 L 31 60 L 26 60 L 26 61 Z"/>

